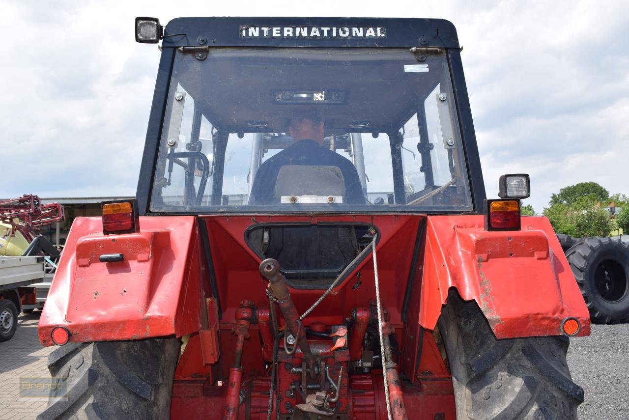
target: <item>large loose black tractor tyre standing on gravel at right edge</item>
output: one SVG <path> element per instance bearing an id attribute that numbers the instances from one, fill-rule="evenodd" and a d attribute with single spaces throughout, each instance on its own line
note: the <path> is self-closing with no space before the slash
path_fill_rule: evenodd
<path id="1" fill-rule="evenodd" d="M 570 248 L 565 257 L 592 321 L 629 321 L 629 244 L 592 236 Z"/>

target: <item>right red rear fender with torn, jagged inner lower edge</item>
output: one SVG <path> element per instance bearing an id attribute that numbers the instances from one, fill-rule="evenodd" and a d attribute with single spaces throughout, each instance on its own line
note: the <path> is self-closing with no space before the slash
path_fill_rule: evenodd
<path id="1" fill-rule="evenodd" d="M 435 328 L 450 287 L 477 302 L 497 338 L 562 334 L 567 317 L 589 335 L 589 312 L 545 217 L 524 216 L 520 231 L 486 231 L 482 216 L 428 216 L 421 326 Z"/>

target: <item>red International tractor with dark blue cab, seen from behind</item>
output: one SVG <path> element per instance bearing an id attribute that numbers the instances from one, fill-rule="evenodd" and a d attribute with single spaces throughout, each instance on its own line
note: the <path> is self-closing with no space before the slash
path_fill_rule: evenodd
<path id="1" fill-rule="evenodd" d="M 486 199 L 454 26 L 136 19 L 136 199 L 77 218 L 40 418 L 574 419 L 583 298 L 528 176 Z"/>

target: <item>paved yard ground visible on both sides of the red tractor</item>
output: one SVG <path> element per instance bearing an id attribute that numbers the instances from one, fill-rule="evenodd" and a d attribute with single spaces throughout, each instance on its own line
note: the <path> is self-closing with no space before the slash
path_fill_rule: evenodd
<path id="1" fill-rule="evenodd" d="M 43 348 L 37 339 L 39 314 L 21 314 L 15 336 L 0 343 L 0 420 L 34 419 L 47 404 L 18 396 L 18 377 L 48 375 L 53 347 Z M 579 419 L 629 418 L 629 324 L 593 325 L 590 337 L 573 338 L 568 364 L 586 393 Z"/>

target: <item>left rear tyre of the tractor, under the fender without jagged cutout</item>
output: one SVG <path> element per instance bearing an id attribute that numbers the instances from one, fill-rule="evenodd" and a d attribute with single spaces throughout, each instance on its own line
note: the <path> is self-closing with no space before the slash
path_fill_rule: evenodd
<path id="1" fill-rule="evenodd" d="M 68 343 L 48 356 L 55 386 L 37 418 L 169 419 L 178 357 L 174 337 Z"/>

